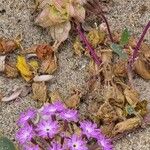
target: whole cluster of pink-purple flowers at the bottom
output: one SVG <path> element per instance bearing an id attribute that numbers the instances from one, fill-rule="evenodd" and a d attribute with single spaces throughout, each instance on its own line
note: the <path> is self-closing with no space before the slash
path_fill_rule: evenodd
<path id="1" fill-rule="evenodd" d="M 80 134 L 70 132 L 73 124 Z M 91 140 L 104 150 L 113 149 L 95 123 L 80 122 L 77 110 L 65 108 L 60 101 L 21 113 L 18 126 L 16 140 L 23 150 L 90 150 Z"/>

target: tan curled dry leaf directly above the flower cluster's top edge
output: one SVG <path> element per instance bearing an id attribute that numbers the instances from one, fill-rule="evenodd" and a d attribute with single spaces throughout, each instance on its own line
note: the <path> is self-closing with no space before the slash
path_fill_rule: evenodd
<path id="1" fill-rule="evenodd" d="M 79 91 L 75 91 L 75 93 L 65 100 L 65 104 L 69 108 L 77 108 L 80 103 L 81 93 Z"/>

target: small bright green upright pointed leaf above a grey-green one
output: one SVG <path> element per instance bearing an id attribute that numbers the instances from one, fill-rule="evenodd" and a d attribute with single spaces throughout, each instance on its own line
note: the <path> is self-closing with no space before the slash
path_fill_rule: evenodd
<path id="1" fill-rule="evenodd" d="M 120 45 L 124 46 L 128 44 L 129 39 L 130 39 L 130 32 L 127 28 L 125 28 L 125 30 L 123 31 L 121 35 Z"/>

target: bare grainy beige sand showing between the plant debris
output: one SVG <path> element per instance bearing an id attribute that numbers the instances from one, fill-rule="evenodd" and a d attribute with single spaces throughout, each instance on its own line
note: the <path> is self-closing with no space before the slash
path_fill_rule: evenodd
<path id="1" fill-rule="evenodd" d="M 0 0 L 0 37 L 9 38 L 22 33 L 25 47 L 30 47 L 36 43 L 50 42 L 51 38 L 47 31 L 34 25 L 33 4 L 32 0 Z M 115 30 L 127 26 L 139 36 L 143 26 L 150 19 L 150 1 L 114 0 L 110 5 L 108 18 L 112 28 Z M 147 36 L 147 40 L 150 42 L 150 34 Z M 84 85 L 87 60 L 73 56 L 72 45 L 69 40 L 66 41 L 65 47 L 60 48 L 58 58 L 59 70 L 54 74 L 56 80 L 49 83 L 49 88 L 51 90 L 59 89 L 65 97 L 69 94 L 71 87 L 82 88 L 82 85 Z M 11 80 L 0 76 L 0 92 L 2 93 L 9 93 L 15 85 L 23 84 L 25 82 L 21 78 Z M 150 100 L 150 81 L 144 81 L 136 77 L 134 85 L 143 99 Z M 0 130 L 2 130 L 2 133 L 14 140 L 14 133 L 17 130 L 17 117 L 21 111 L 29 106 L 37 106 L 30 95 L 24 99 L 0 104 Z M 115 143 L 115 150 L 149 150 L 149 134 L 150 128 L 131 133 Z"/>

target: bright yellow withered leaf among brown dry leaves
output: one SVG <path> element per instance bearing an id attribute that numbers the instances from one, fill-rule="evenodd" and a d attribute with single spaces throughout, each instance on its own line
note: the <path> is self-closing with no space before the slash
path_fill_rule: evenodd
<path id="1" fill-rule="evenodd" d="M 17 69 L 20 71 L 21 76 L 26 80 L 30 81 L 33 77 L 32 72 L 30 70 L 30 66 L 27 64 L 24 56 L 17 57 Z"/>

